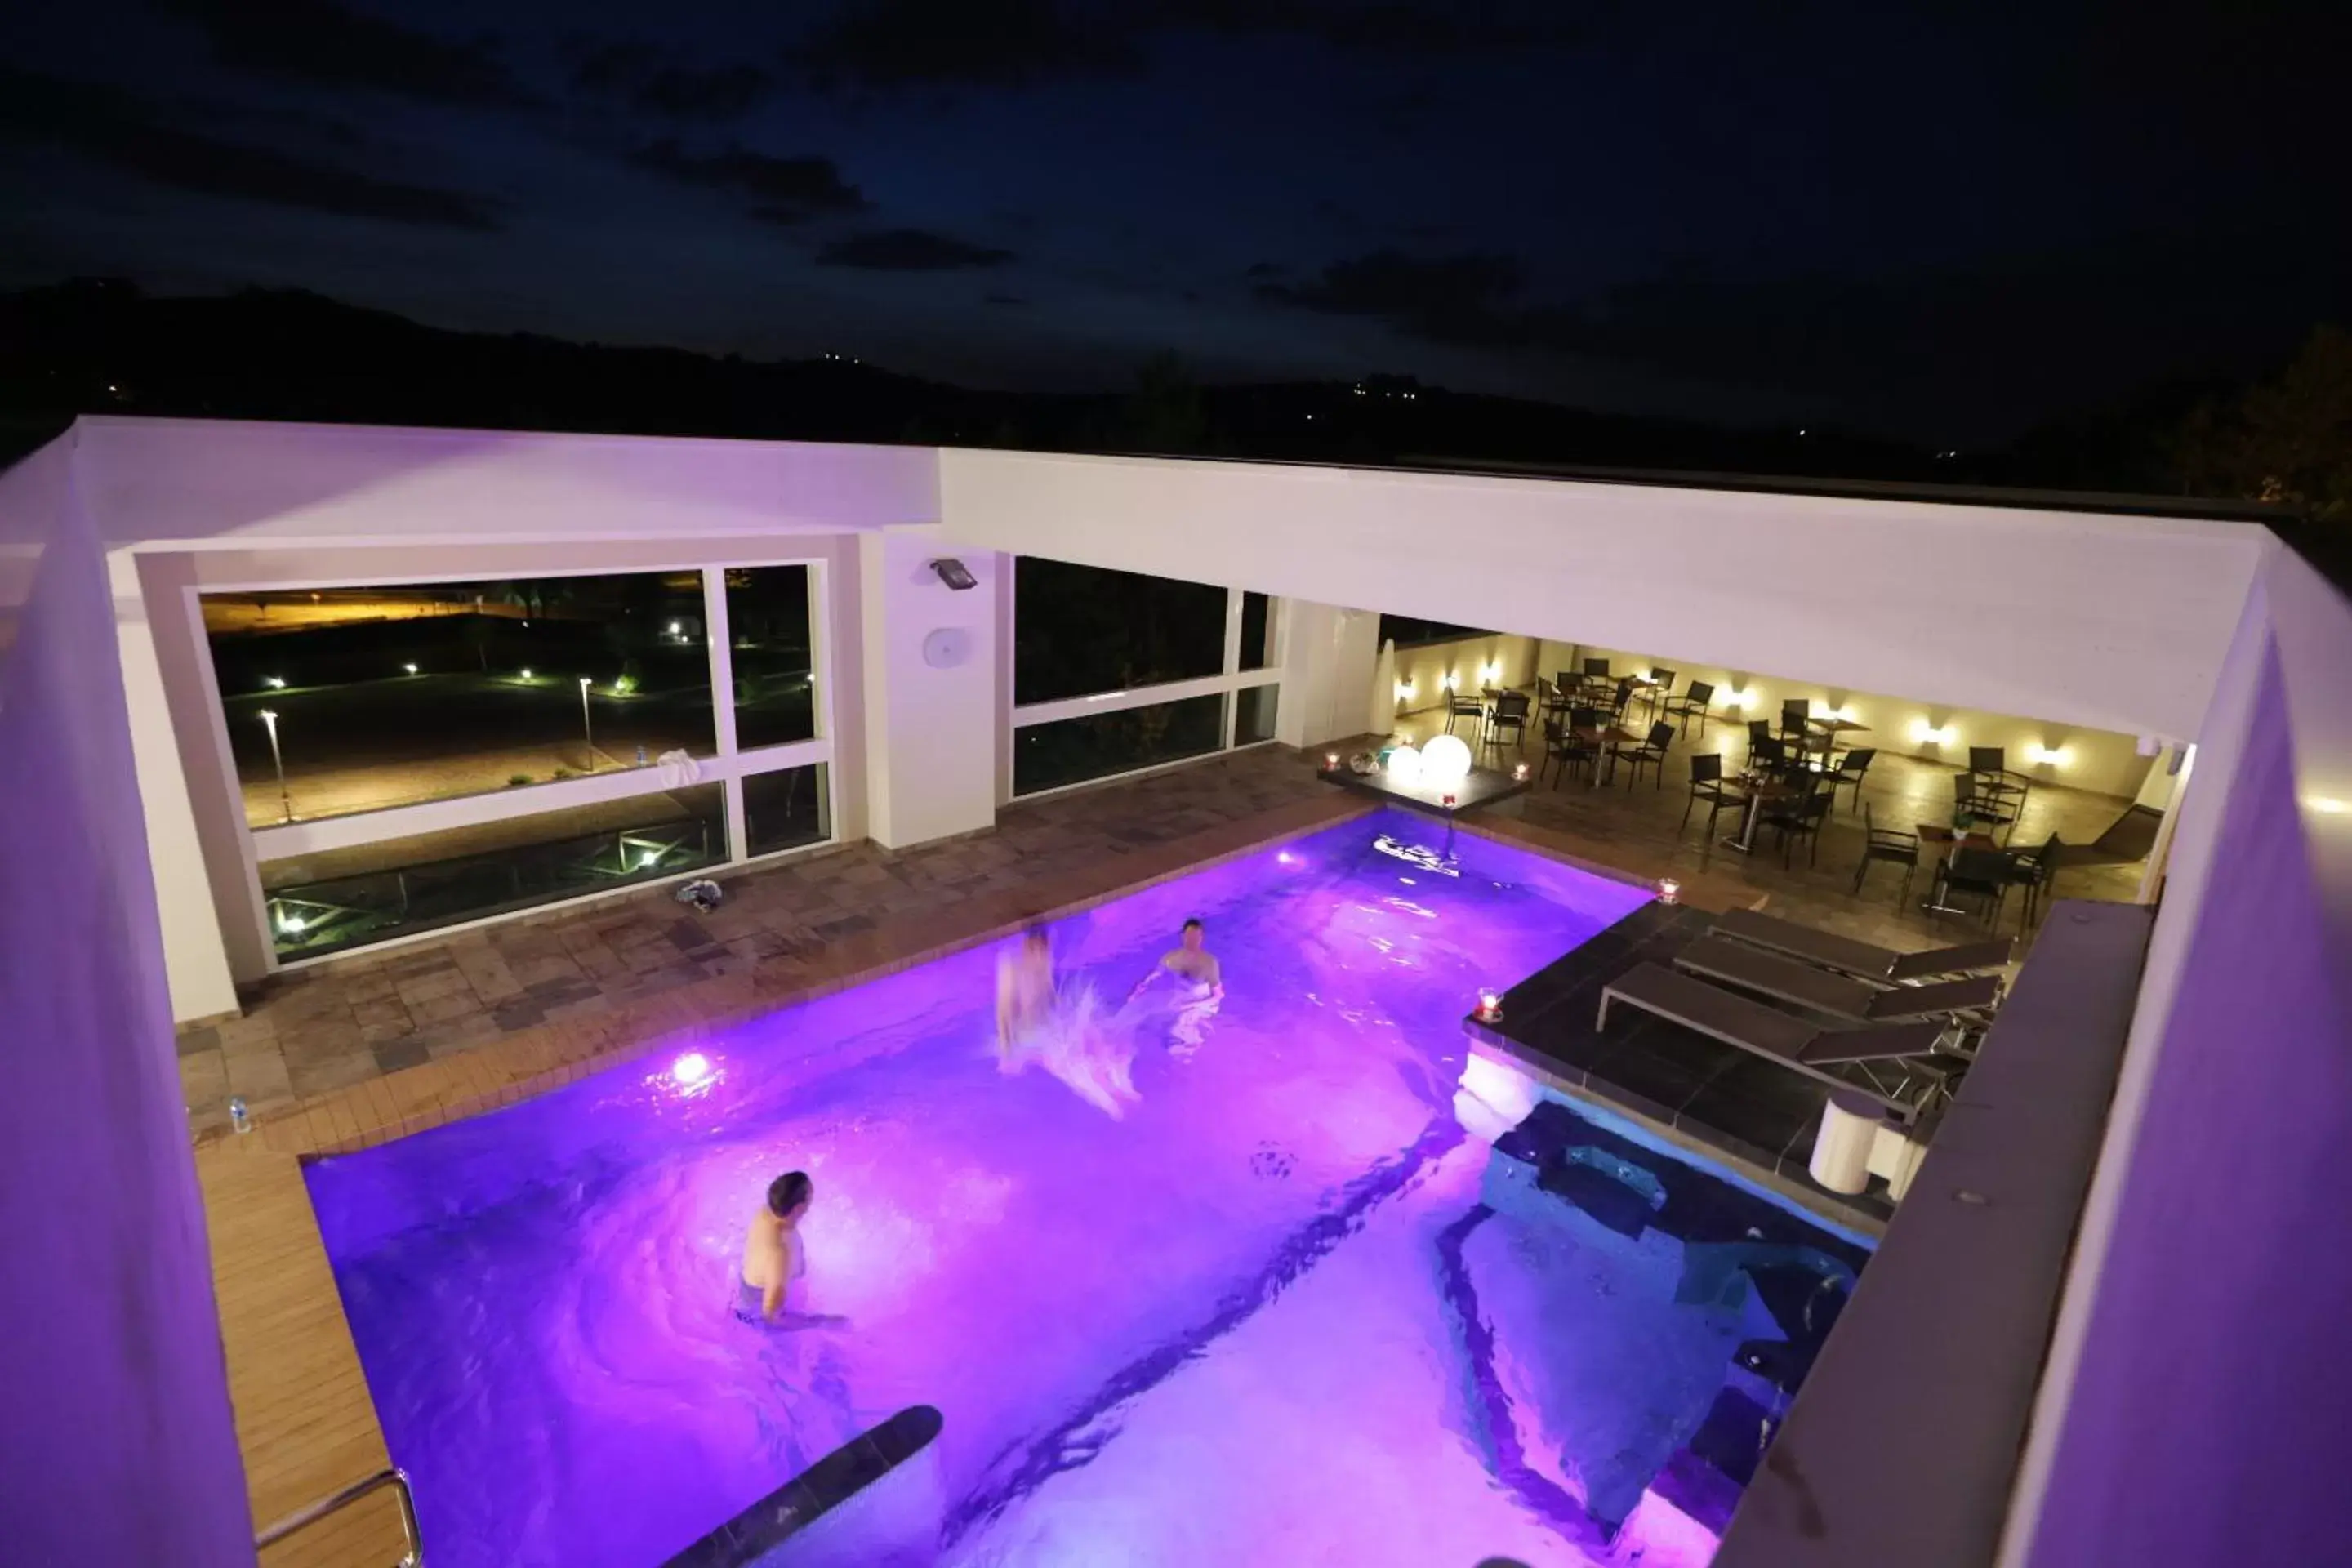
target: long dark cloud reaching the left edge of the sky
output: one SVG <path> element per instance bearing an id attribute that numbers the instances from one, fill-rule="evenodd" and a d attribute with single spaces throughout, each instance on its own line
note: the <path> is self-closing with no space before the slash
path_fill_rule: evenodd
<path id="1" fill-rule="evenodd" d="M 49 143 L 158 186 L 423 228 L 494 230 L 459 190 L 374 179 L 270 148 L 176 129 L 132 94 L 0 66 L 0 134 Z"/>

